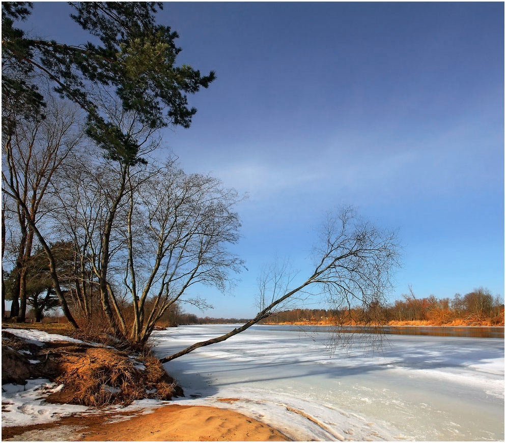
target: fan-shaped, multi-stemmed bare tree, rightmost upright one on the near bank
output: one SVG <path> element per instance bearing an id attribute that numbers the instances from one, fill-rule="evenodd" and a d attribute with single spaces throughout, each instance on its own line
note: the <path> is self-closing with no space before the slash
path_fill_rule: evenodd
<path id="1" fill-rule="evenodd" d="M 133 303 L 130 339 L 136 343 L 148 339 L 174 303 L 205 305 L 200 299 L 181 299 L 189 287 L 201 283 L 225 290 L 229 272 L 242 265 L 226 250 L 238 240 L 237 192 L 211 176 L 186 174 L 174 162 L 147 174 L 135 187 L 130 181 L 127 214 L 124 284 Z"/>

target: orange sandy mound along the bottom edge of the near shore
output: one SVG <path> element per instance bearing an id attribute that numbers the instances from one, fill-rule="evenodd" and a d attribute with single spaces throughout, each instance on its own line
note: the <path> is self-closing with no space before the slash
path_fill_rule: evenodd
<path id="1" fill-rule="evenodd" d="M 110 415 L 67 417 L 44 425 L 2 428 L 2 437 L 14 441 L 288 441 L 264 423 L 210 406 L 167 405 L 119 422 L 108 423 L 110 419 Z"/>

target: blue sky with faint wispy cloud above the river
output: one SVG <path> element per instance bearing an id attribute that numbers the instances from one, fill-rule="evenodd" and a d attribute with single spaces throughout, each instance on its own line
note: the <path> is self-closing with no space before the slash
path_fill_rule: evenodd
<path id="1" fill-rule="evenodd" d="M 86 33 L 66 3 L 25 28 Z M 249 193 L 233 295 L 199 315 L 251 316 L 274 255 L 310 272 L 314 228 L 341 203 L 400 228 L 399 297 L 504 294 L 502 3 L 165 3 L 179 63 L 206 73 L 190 129 L 165 131 L 188 172 Z M 316 307 L 316 306 L 313 306 Z"/>

